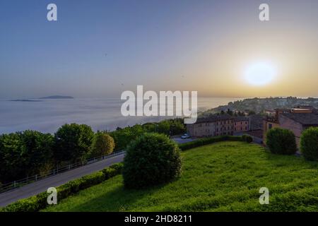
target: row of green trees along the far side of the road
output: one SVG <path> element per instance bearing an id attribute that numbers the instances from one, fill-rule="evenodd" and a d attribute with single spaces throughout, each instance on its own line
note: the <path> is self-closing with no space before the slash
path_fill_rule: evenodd
<path id="1" fill-rule="evenodd" d="M 31 130 L 2 134 L 0 184 L 35 174 L 47 174 L 59 165 L 108 155 L 113 150 L 123 150 L 143 133 L 156 132 L 173 136 L 185 131 L 183 119 L 168 119 L 96 133 L 85 124 L 64 124 L 54 134 Z"/>

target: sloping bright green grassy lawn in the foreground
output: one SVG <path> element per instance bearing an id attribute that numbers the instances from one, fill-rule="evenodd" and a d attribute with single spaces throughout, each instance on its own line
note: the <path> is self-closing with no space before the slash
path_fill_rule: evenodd
<path id="1" fill-rule="evenodd" d="M 170 184 L 127 190 L 117 176 L 45 211 L 318 211 L 317 162 L 230 141 L 182 157 L 182 176 Z M 261 187 L 269 205 L 259 204 Z"/>

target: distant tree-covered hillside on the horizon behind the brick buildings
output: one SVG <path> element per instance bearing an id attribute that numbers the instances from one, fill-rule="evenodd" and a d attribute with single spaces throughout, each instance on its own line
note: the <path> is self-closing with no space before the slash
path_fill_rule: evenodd
<path id="1" fill-rule="evenodd" d="M 208 110 L 208 112 L 221 112 L 230 110 L 239 110 L 245 112 L 252 110 L 254 112 L 263 112 L 266 109 L 275 108 L 291 108 L 298 105 L 312 105 L 312 107 L 318 108 L 318 98 L 300 99 L 297 97 L 269 97 L 269 98 L 252 98 L 245 100 L 237 100 L 235 102 L 229 102 L 228 105 L 219 106 Z"/>

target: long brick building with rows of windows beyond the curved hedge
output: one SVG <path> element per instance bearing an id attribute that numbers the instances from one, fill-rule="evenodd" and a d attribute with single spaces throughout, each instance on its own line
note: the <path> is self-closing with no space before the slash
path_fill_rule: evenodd
<path id="1" fill-rule="evenodd" d="M 247 117 L 231 117 L 228 114 L 200 118 L 195 124 L 187 124 L 187 133 L 194 137 L 233 135 L 248 130 Z"/>

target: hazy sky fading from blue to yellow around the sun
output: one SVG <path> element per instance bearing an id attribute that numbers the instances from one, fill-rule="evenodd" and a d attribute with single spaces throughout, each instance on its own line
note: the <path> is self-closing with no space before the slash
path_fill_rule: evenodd
<path id="1" fill-rule="evenodd" d="M 317 0 L 1 0 L 0 98 L 120 97 L 136 85 L 317 97 L 317 28 Z M 258 62 L 274 69 L 269 83 L 245 79 Z"/>

